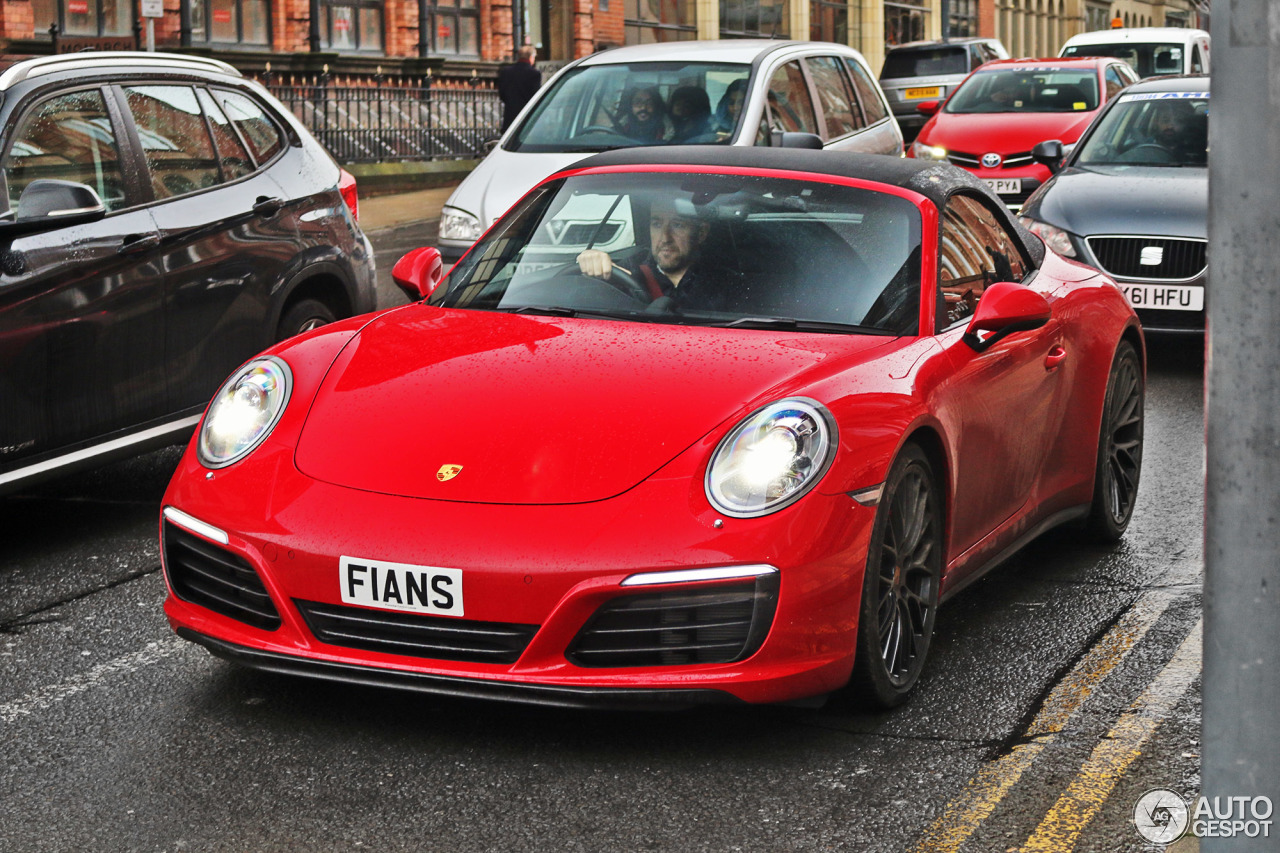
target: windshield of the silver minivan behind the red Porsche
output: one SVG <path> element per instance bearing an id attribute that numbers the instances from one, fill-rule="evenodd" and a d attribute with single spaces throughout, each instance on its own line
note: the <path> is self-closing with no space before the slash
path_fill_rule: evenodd
<path id="1" fill-rule="evenodd" d="M 507 143 L 586 152 L 733 138 L 751 67 L 740 63 L 591 65 L 561 77 Z"/>

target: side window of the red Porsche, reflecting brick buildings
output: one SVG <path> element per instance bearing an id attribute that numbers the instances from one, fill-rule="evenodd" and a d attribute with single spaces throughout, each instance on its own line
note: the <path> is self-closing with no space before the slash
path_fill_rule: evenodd
<path id="1" fill-rule="evenodd" d="M 942 215 L 938 330 L 968 319 L 987 284 L 1020 282 L 1027 264 L 1012 236 L 972 196 L 952 196 Z"/>

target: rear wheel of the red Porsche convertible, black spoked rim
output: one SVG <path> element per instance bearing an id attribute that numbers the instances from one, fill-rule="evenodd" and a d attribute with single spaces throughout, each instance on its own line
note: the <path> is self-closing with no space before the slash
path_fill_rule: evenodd
<path id="1" fill-rule="evenodd" d="M 1138 351 L 1128 341 L 1116 347 L 1107 377 L 1093 473 L 1093 505 L 1084 526 L 1097 542 L 1124 535 L 1138 501 L 1142 474 L 1143 377 Z"/>

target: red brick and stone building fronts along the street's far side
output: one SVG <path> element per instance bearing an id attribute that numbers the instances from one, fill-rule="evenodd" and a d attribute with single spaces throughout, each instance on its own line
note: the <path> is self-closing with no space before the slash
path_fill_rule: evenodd
<path id="1" fill-rule="evenodd" d="M 1119 4 L 1119 5 L 1117 5 Z M 938 38 L 941 0 L 163 0 L 157 50 L 246 72 L 488 78 L 517 44 L 558 67 L 616 45 L 737 36 L 817 38 L 859 49 Z M 948 0 L 951 35 L 996 36 L 1014 55 L 1052 55 L 1124 6 L 1139 23 L 1201 26 L 1190 0 Z M 0 0 L 13 55 L 145 45 L 142 0 Z M 51 35 L 50 24 L 58 31 Z M 1106 26 L 1106 24 L 1102 24 Z M 58 44 L 60 42 L 60 44 Z"/>

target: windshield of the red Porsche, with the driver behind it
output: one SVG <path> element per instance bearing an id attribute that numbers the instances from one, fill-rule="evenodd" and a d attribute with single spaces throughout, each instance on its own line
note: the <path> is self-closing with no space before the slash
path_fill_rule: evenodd
<path id="1" fill-rule="evenodd" d="M 632 321 L 914 334 L 920 215 L 870 190 L 608 174 L 525 197 L 430 302 Z"/>

